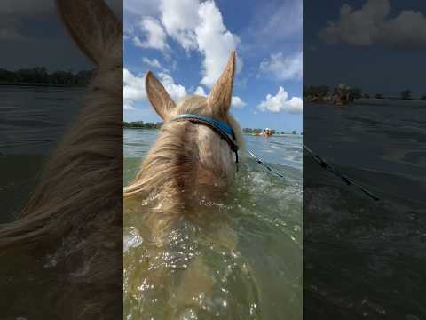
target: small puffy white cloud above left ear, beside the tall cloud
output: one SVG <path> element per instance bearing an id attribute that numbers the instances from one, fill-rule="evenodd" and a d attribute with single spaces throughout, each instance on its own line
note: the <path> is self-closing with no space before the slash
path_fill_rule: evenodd
<path id="1" fill-rule="evenodd" d="M 153 48 L 160 51 L 169 49 L 167 35 L 160 21 L 145 17 L 140 20 L 139 29 L 145 34 L 146 40 L 141 41 L 138 36 L 133 36 L 133 44 L 142 48 Z"/>

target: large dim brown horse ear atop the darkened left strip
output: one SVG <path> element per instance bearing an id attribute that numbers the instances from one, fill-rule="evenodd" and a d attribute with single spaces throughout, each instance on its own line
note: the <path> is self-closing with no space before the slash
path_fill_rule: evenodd
<path id="1" fill-rule="evenodd" d="M 69 35 L 95 64 L 122 41 L 122 22 L 103 0 L 56 0 Z"/>

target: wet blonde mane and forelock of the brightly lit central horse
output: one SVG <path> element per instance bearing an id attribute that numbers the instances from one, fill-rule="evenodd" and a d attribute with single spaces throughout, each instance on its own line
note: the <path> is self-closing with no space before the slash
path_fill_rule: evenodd
<path id="1" fill-rule="evenodd" d="M 188 96 L 176 108 L 174 114 L 199 114 L 206 113 L 207 100 L 200 96 Z M 227 114 L 225 122 L 235 132 L 240 153 L 245 153 L 240 125 L 231 114 Z M 175 201 L 185 204 L 185 196 L 192 194 L 192 189 L 197 187 L 201 149 L 197 144 L 198 131 L 201 124 L 191 122 L 165 122 L 161 132 L 141 165 L 135 179 L 124 188 L 124 198 L 134 196 L 148 196 L 153 191 L 167 188 Z M 205 128 L 202 128 L 205 130 Z M 209 130 L 209 129 L 208 129 Z M 217 135 L 216 132 L 211 132 Z M 221 138 L 217 136 L 217 140 Z M 225 141 L 220 141 L 221 148 L 229 148 Z M 224 164 L 225 165 L 225 164 Z M 232 164 L 233 165 L 233 164 Z M 221 168 L 227 180 L 232 180 L 233 171 Z"/>

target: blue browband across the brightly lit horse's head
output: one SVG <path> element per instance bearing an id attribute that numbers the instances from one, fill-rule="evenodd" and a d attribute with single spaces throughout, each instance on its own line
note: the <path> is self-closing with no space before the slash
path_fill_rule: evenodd
<path id="1" fill-rule="evenodd" d="M 233 132 L 233 128 L 229 126 L 229 124 L 226 124 L 223 121 L 220 121 L 218 119 L 215 119 L 211 116 L 201 116 L 201 115 L 195 115 L 195 114 L 182 114 L 175 116 L 170 121 L 191 121 L 196 124 L 205 124 L 209 126 L 211 129 L 216 131 L 223 139 L 228 142 L 229 146 L 235 152 L 235 155 L 237 157 L 237 163 L 238 163 L 238 145 L 235 142 L 236 137 L 235 133 Z"/>

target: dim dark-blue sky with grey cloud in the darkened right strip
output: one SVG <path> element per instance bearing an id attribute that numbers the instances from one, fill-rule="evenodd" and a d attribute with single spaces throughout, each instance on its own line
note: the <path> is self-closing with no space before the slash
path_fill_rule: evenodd
<path id="1" fill-rule="evenodd" d="M 304 0 L 304 84 L 426 94 L 426 1 Z"/>

